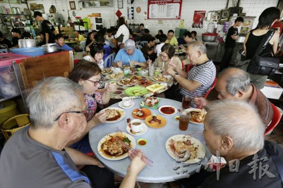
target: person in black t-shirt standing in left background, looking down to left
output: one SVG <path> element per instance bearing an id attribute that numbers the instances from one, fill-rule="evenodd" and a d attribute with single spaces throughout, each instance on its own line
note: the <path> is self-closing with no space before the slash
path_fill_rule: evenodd
<path id="1" fill-rule="evenodd" d="M 43 40 L 45 40 L 45 44 L 54 43 L 57 33 L 53 25 L 50 23 L 50 21 L 45 20 L 42 17 L 42 14 L 38 11 L 34 11 L 33 16 L 38 22 L 41 22 L 41 29 L 42 29 L 43 36 L 44 36 Z"/>

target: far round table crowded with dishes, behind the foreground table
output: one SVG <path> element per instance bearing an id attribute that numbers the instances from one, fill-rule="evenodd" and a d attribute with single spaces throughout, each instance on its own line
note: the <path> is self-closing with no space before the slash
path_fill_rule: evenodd
<path id="1" fill-rule="evenodd" d="M 121 99 L 123 97 L 132 97 L 132 98 L 141 98 L 141 97 L 148 97 L 148 96 L 153 96 L 153 95 L 157 95 L 159 93 L 162 93 L 164 91 L 166 91 L 167 89 L 169 89 L 172 85 L 173 85 L 173 77 L 171 77 L 170 75 L 165 75 L 165 77 L 168 78 L 168 80 L 166 82 L 157 82 L 155 80 L 153 80 L 151 76 L 149 76 L 149 74 L 145 74 L 145 75 L 136 75 L 137 77 L 139 77 L 140 79 L 146 79 L 146 80 L 149 80 L 152 82 L 151 85 L 153 84 L 160 84 L 160 85 L 164 85 L 165 87 L 163 89 L 160 89 L 160 90 L 157 90 L 157 91 L 150 91 L 150 90 L 147 90 L 147 93 L 146 94 L 140 94 L 140 95 L 128 95 L 126 93 L 126 89 L 128 89 L 129 87 L 146 87 L 146 86 L 143 86 L 143 85 L 139 85 L 138 82 L 139 80 L 136 80 L 136 83 L 133 84 L 133 85 L 130 85 L 130 86 L 123 86 L 123 85 L 120 85 L 119 84 L 119 81 L 122 80 L 122 79 L 130 79 L 131 77 L 127 77 L 126 75 L 123 76 L 122 78 L 119 78 L 119 79 L 108 79 L 108 75 L 104 75 L 104 82 L 105 83 L 109 83 L 109 82 L 115 82 L 117 84 L 117 89 L 116 91 L 114 92 L 111 92 L 110 94 L 110 98 L 112 99 Z M 156 75 L 155 75 L 156 76 Z M 149 86 L 149 85 L 148 85 Z"/>

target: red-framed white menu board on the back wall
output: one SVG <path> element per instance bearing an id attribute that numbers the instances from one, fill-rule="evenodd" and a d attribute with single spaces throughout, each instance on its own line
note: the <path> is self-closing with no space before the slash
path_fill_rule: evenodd
<path id="1" fill-rule="evenodd" d="M 148 19 L 180 19 L 182 0 L 148 0 Z"/>

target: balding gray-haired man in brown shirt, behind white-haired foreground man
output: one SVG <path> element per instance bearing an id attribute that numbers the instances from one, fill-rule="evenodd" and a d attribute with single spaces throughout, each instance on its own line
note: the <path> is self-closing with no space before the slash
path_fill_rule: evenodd
<path id="1" fill-rule="evenodd" d="M 223 70 L 217 79 L 215 89 L 219 99 L 242 100 L 254 104 L 267 127 L 272 120 L 273 109 L 263 93 L 250 83 L 249 74 L 237 68 Z M 195 97 L 195 104 L 206 106 L 208 101 L 203 97 Z"/>

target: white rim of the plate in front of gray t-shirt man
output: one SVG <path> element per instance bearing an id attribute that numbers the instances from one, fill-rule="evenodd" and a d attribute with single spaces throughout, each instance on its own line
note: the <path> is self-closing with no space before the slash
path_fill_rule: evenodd
<path id="1" fill-rule="evenodd" d="M 108 159 L 108 160 L 111 160 L 111 161 L 117 161 L 117 160 L 121 160 L 121 159 L 124 159 L 124 158 L 128 157 L 128 153 L 124 153 L 123 155 L 120 155 L 120 156 L 117 156 L 117 157 L 115 157 L 115 156 L 112 157 L 112 156 L 106 155 L 103 151 L 101 151 L 101 145 L 102 145 L 105 141 L 109 140 L 109 139 L 111 138 L 110 136 L 115 136 L 116 134 L 117 134 L 117 133 L 108 134 L 108 135 L 106 135 L 105 137 L 103 137 L 103 138 L 99 141 L 99 143 L 98 143 L 98 152 L 99 152 L 99 154 L 100 154 L 103 158 Z M 129 135 L 129 134 L 127 134 L 127 133 L 119 133 L 119 134 L 123 134 L 123 136 L 128 137 L 128 139 L 131 141 L 130 146 L 131 146 L 133 149 L 135 148 L 136 143 L 135 143 L 134 138 L 133 138 L 131 135 Z"/>

